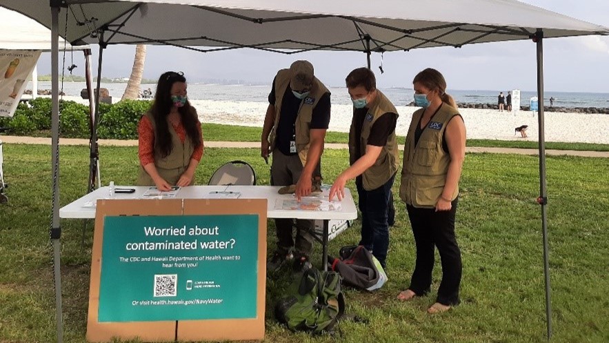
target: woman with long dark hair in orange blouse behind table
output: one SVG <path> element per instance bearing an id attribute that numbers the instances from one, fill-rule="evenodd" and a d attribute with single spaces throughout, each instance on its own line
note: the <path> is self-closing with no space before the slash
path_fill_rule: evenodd
<path id="1" fill-rule="evenodd" d="M 182 72 L 165 72 L 159 77 L 157 92 L 137 128 L 140 161 L 138 186 L 194 184 L 194 172 L 203 157 L 203 135 L 197 110 L 186 97 Z"/>

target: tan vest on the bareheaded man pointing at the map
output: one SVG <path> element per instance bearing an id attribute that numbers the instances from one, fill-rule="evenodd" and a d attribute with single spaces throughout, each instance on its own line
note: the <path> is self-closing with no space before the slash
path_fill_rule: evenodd
<path id="1" fill-rule="evenodd" d="M 349 157 L 350 164 L 354 164 L 357 160 L 355 156 L 355 144 L 359 144 L 359 151 L 363 155 L 366 152 L 366 146 L 368 145 L 368 137 L 370 136 L 370 128 L 375 124 L 377 119 L 382 117 L 388 112 L 395 113 L 397 110 L 395 106 L 387 99 L 387 97 L 380 91 L 377 90 L 377 97 L 372 104 L 369 104 L 368 114 L 366 119 L 363 120 L 361 125 L 361 136 L 355 137 L 355 116 L 351 121 L 351 129 L 349 131 Z M 399 153 L 397 149 L 397 139 L 395 137 L 395 129 L 387 137 L 387 144 L 381 149 L 379 157 L 375 164 L 366 169 L 361 175 L 361 181 L 363 188 L 366 190 L 377 189 L 386 182 L 397 172 L 399 169 Z"/>

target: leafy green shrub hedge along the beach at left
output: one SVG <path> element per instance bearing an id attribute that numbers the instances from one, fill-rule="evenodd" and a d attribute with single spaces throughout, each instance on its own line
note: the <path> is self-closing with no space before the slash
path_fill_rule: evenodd
<path id="1" fill-rule="evenodd" d="M 137 123 L 150 108 L 150 100 L 123 100 L 99 104 L 98 135 L 102 139 L 137 139 Z M 19 104 L 12 118 L 0 117 L 7 135 L 48 136 L 51 128 L 51 99 L 37 98 Z M 59 137 L 89 137 L 89 106 L 59 101 Z"/>

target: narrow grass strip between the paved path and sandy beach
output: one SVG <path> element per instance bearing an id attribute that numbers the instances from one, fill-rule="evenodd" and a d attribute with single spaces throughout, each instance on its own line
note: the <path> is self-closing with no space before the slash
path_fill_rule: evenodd
<path id="1" fill-rule="evenodd" d="M 260 141 L 261 128 L 251 126 L 231 126 L 221 124 L 203 124 L 203 135 L 207 141 Z M 403 144 L 404 136 L 398 136 L 397 141 Z M 348 133 L 328 131 L 326 143 L 347 143 Z M 468 146 L 484 146 L 497 148 L 530 148 L 537 149 L 537 141 L 499 141 L 496 139 L 468 139 Z M 557 150 L 592 150 L 609 151 L 609 144 L 563 143 L 546 142 L 547 149 Z"/>

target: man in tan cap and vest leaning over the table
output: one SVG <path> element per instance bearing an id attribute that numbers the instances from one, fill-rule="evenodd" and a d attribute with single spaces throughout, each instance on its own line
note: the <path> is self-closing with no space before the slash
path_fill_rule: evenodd
<path id="1" fill-rule="evenodd" d="M 272 153 L 270 182 L 273 186 L 294 185 L 298 200 L 321 190 L 321 154 L 330 124 L 330 90 L 313 72 L 309 61 L 294 61 L 273 79 L 268 108 L 262 128 L 261 156 L 267 161 Z M 277 250 L 267 263 L 277 271 L 291 262 L 294 271 L 310 265 L 315 227 L 313 220 L 275 219 Z M 293 260 L 293 261 L 292 261 Z"/>

